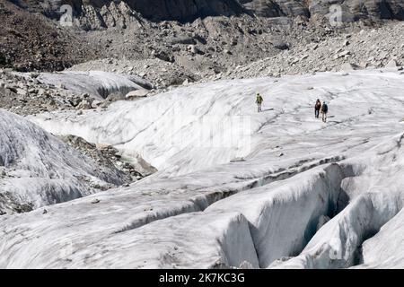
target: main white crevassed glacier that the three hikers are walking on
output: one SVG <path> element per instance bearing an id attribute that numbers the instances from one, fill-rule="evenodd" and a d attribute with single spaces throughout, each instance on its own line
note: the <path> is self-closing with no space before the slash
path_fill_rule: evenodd
<path id="1" fill-rule="evenodd" d="M 319 73 L 28 117 L 158 171 L 47 213 L 0 216 L 0 267 L 400 267 L 403 89 L 394 69 Z"/>

